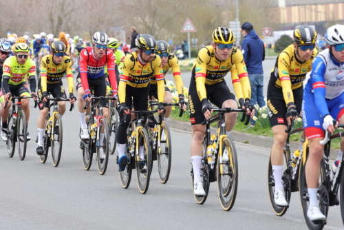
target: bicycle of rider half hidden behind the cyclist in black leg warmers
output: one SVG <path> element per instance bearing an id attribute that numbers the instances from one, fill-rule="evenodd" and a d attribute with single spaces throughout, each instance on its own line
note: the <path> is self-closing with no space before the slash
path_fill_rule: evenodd
<path id="1" fill-rule="evenodd" d="M 158 105 L 158 101 L 149 101 L 151 105 Z M 164 103 L 166 106 L 178 106 L 179 103 Z M 183 115 L 184 110 L 180 109 L 179 116 Z M 146 124 L 147 125 L 147 124 Z M 154 125 L 151 129 L 146 128 L 149 136 L 149 144 L 151 146 L 151 170 L 153 170 L 153 160 L 158 160 L 158 174 L 160 182 L 166 184 L 169 180 L 171 171 L 172 143 L 169 126 L 164 122 L 164 117 L 159 114 L 158 125 Z"/>

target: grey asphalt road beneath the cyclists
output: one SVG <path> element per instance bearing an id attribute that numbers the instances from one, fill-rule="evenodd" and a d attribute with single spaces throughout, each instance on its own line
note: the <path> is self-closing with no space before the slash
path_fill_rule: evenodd
<path id="1" fill-rule="evenodd" d="M 65 84 L 65 80 L 64 80 Z M 25 160 L 9 158 L 0 142 L 1 229 L 307 229 L 299 193 L 292 194 L 283 217 L 270 207 L 267 167 L 270 149 L 235 143 L 239 160 L 239 187 L 235 206 L 223 211 L 216 183 L 204 205 L 193 197 L 189 147 L 191 134 L 171 129 L 173 161 L 166 185 L 158 178 L 156 162 L 147 194 L 140 194 L 136 172 L 128 189 L 120 185 L 116 156 L 109 157 L 104 176 L 96 161 L 83 168 L 79 148 L 78 112 L 63 116 L 63 154 L 60 165 L 50 158 L 42 164 L 36 155 L 36 121 L 39 110 L 30 105 Z M 343 229 L 339 207 L 330 207 L 325 229 Z"/>

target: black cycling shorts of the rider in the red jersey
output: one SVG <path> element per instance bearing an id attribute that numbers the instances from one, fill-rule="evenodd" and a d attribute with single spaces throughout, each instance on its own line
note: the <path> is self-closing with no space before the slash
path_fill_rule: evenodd
<path id="1" fill-rule="evenodd" d="M 94 96 L 107 96 L 107 85 L 105 80 L 105 75 L 98 77 L 98 79 L 91 79 L 87 78 L 89 90 L 91 90 L 91 94 Z M 83 84 L 81 83 L 81 77 L 80 72 L 78 73 L 78 76 L 76 76 L 76 91 L 80 87 L 83 87 Z M 97 102 L 96 100 L 95 102 Z M 103 107 L 109 108 L 109 100 L 103 100 Z"/>

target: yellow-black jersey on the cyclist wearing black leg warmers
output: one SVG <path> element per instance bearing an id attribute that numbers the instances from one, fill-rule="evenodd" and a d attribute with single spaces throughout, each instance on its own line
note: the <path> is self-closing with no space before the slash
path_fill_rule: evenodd
<path id="1" fill-rule="evenodd" d="M 120 103 L 125 102 L 125 87 L 149 87 L 151 78 L 155 76 L 158 84 L 159 101 L 164 101 L 164 72 L 161 68 L 160 56 L 154 55 L 153 61 L 143 64 L 138 57 L 138 52 L 132 52 L 125 57 L 125 62 L 120 72 L 120 83 L 118 85 L 118 97 Z"/>

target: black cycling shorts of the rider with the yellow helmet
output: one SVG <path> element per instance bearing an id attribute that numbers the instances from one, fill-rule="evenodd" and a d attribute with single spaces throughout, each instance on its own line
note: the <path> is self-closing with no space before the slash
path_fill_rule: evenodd
<path id="1" fill-rule="evenodd" d="M 206 98 L 219 108 L 227 100 L 235 100 L 235 95 L 230 92 L 226 81 L 220 81 L 213 85 L 206 85 Z M 189 114 L 191 125 L 199 125 L 204 121 L 202 113 L 202 102 L 197 94 L 195 81 L 195 68 L 193 68 L 191 82 L 189 87 Z"/>

